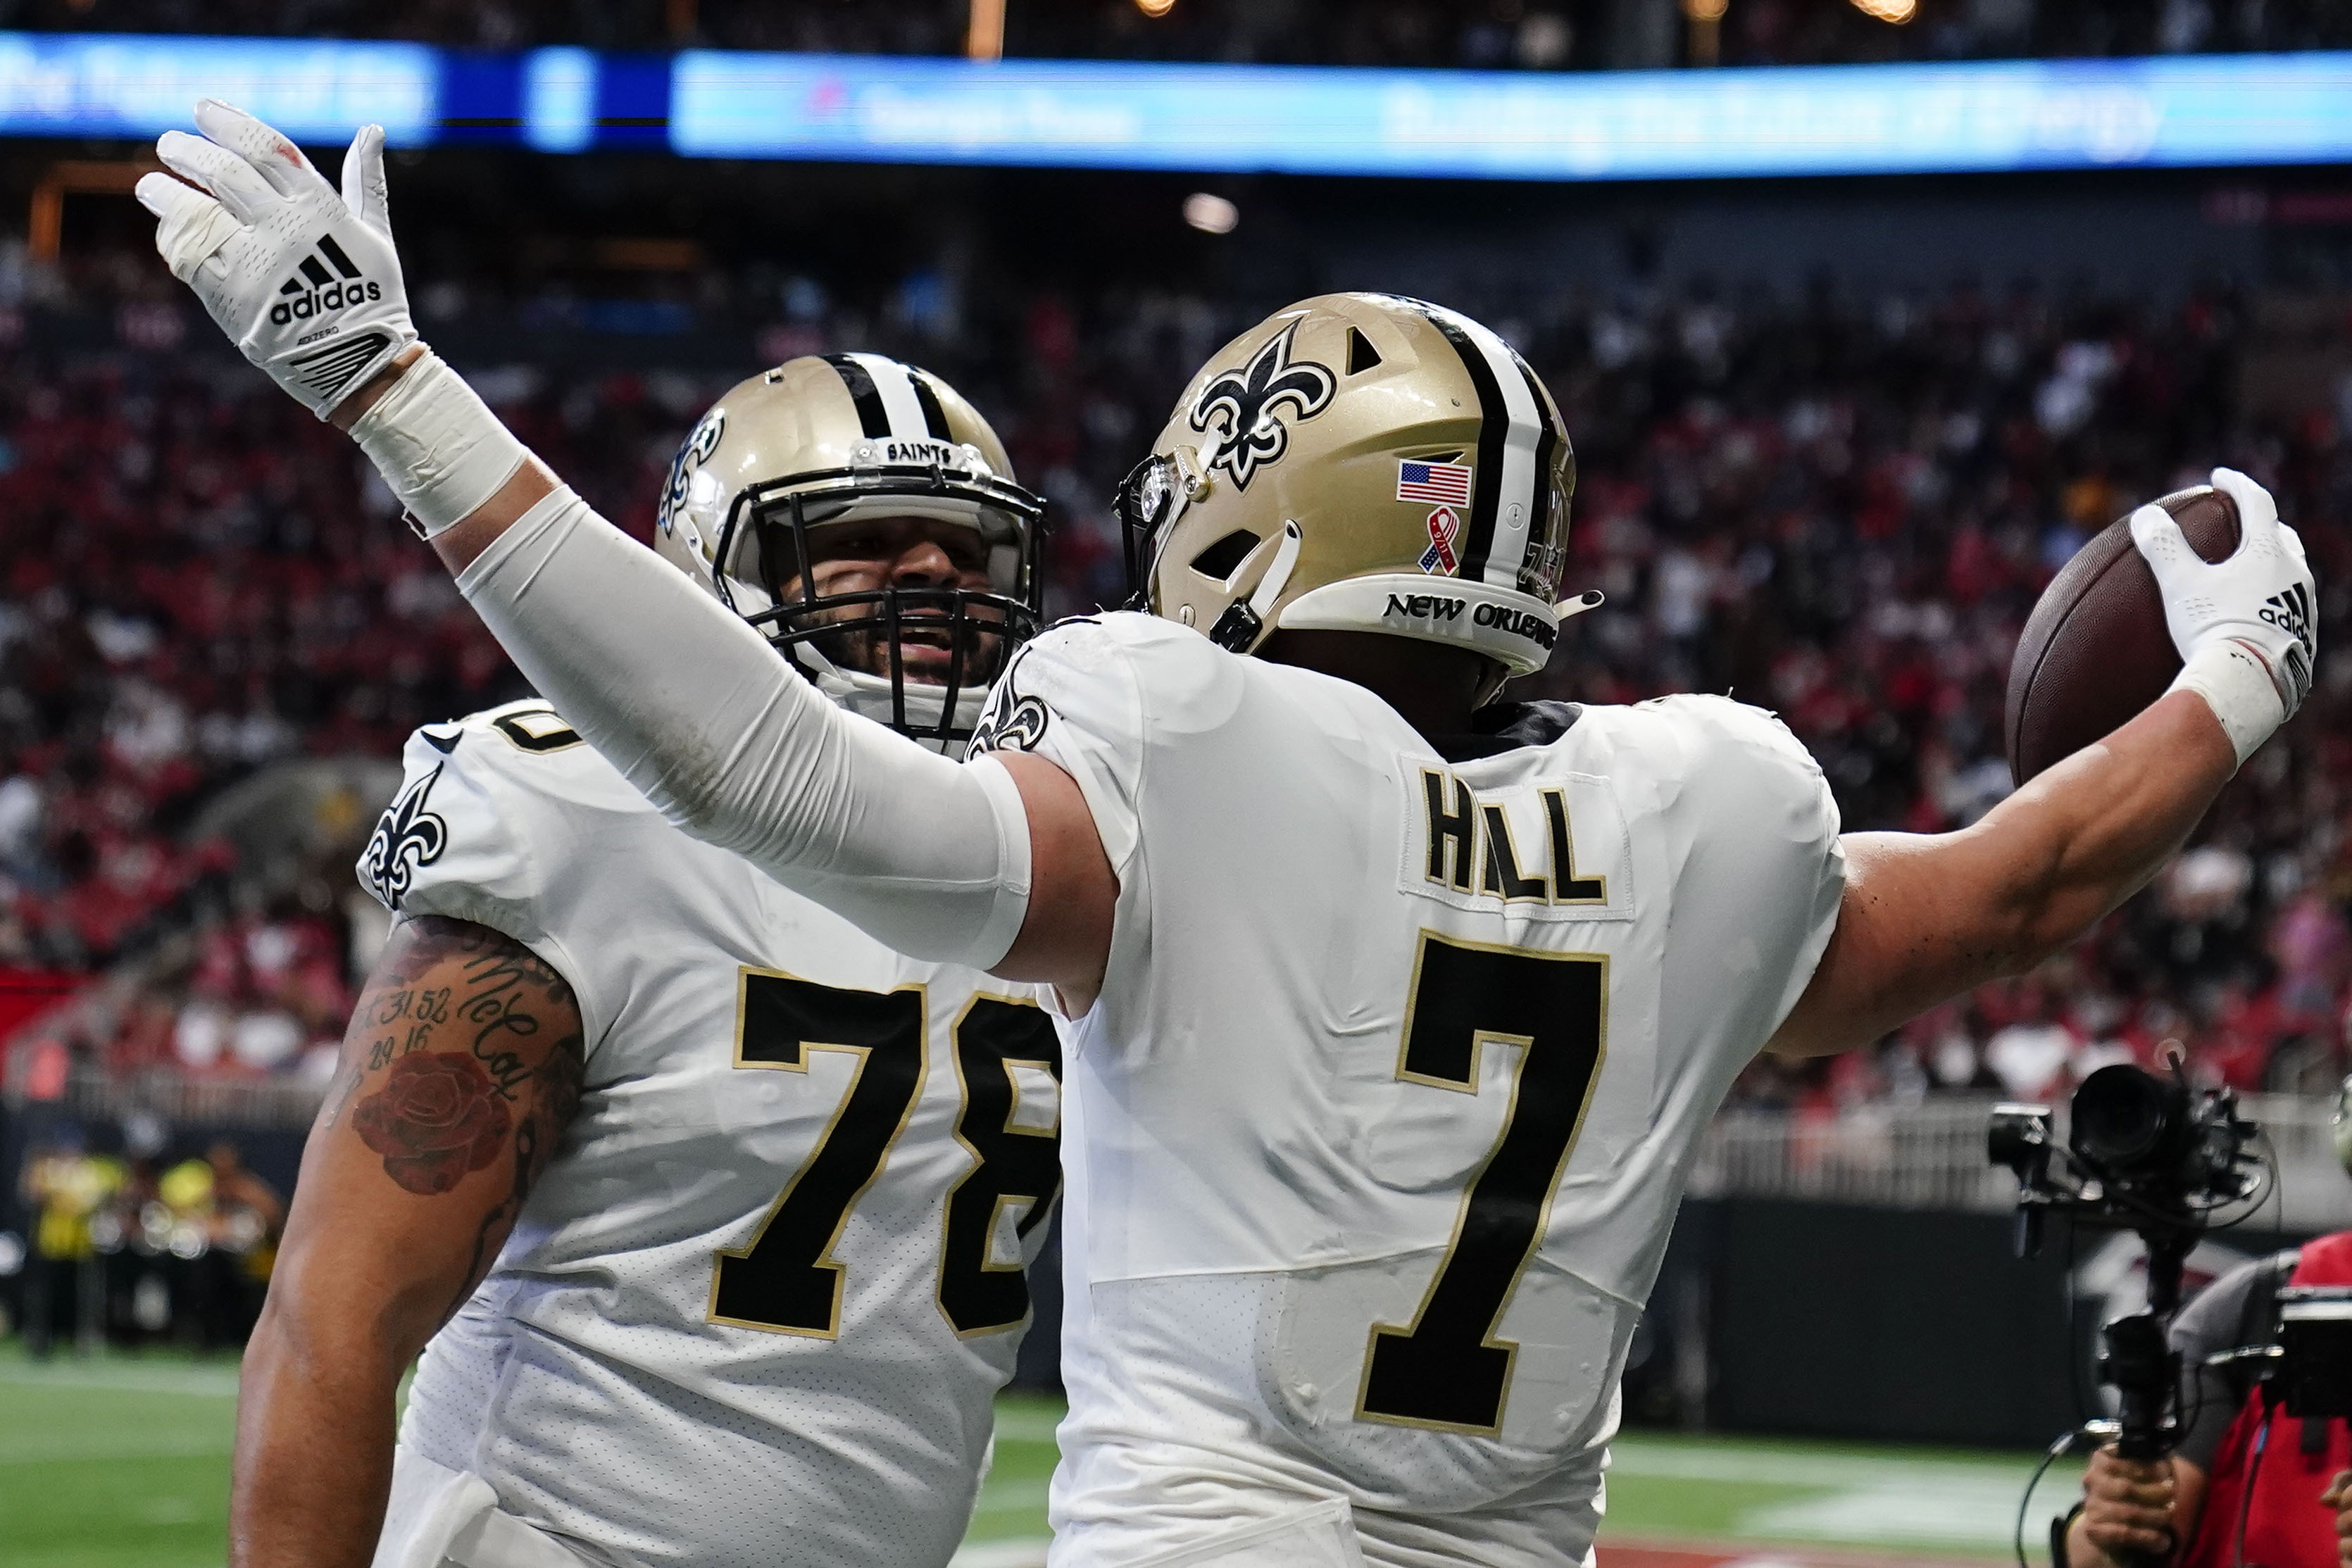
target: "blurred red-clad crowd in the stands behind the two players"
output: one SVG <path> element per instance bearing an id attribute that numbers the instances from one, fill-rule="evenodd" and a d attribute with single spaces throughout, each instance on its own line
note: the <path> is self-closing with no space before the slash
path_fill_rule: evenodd
<path id="1" fill-rule="evenodd" d="M 393 757 L 409 726 L 517 682 L 348 442 L 191 334 L 148 273 L 120 259 L 16 303 L 0 289 L 0 964 L 89 966 L 155 929 L 191 933 L 103 1027 L 42 1048 L 115 1070 L 320 1072 L 367 952 L 348 872 L 322 860 L 270 898 L 240 893 L 233 851 L 195 832 L 207 802 L 287 757 Z M 1188 374 L 1279 301 L 1002 282 L 941 308 L 934 294 L 917 275 L 898 303 L 854 310 L 811 277 L 739 280 L 731 299 L 767 306 L 734 327 L 736 371 L 468 369 L 642 534 L 673 442 L 736 374 L 793 353 L 901 353 L 962 386 L 1054 501 L 1051 609 L 1117 604 L 1108 496 Z M 2352 393 L 2314 383 L 2251 414 L 2249 301 L 2023 282 L 1496 287 L 1449 303 L 1557 393 L 1581 461 L 1566 583 L 1609 595 L 1529 686 L 1769 705 L 1820 757 L 1849 827 L 1955 827 L 2002 799 L 2018 628 L 2051 571 L 2138 501 L 2232 463 L 2277 489 L 2310 543 L 2326 590 L 2312 708 L 2154 889 L 2042 973 L 1877 1053 L 1762 1063 L 1743 1095 L 1830 1110 L 2046 1095 L 2171 1051 L 2239 1086 L 2343 1072 Z M 111 341 L 71 339 L 68 317 L 111 322 Z"/>

